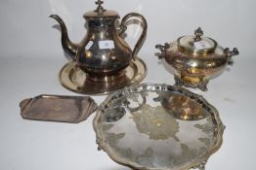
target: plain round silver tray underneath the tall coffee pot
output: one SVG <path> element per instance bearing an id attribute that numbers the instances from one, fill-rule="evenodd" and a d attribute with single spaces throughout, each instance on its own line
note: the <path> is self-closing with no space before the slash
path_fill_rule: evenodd
<path id="1" fill-rule="evenodd" d="M 136 57 L 123 71 L 113 76 L 95 77 L 82 71 L 75 62 L 64 65 L 59 78 L 65 88 L 83 94 L 107 94 L 124 86 L 139 84 L 147 74 L 147 66 Z"/>

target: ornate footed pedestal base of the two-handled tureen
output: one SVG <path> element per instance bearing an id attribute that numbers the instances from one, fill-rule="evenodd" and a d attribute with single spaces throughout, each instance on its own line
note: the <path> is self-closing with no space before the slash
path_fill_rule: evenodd
<path id="1" fill-rule="evenodd" d="M 205 77 L 189 77 L 189 76 L 174 76 L 175 85 L 199 88 L 202 91 L 207 91 L 209 80 Z"/>

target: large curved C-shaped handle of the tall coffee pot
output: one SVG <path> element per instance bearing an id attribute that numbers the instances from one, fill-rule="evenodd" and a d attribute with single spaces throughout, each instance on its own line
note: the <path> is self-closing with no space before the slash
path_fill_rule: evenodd
<path id="1" fill-rule="evenodd" d="M 138 13 L 129 13 L 125 17 L 123 17 L 122 20 L 121 20 L 119 35 L 123 34 L 126 31 L 126 29 L 127 29 L 126 21 L 131 17 L 139 17 L 140 20 L 141 20 L 141 26 L 143 27 L 142 35 L 139 38 L 138 42 L 136 43 L 136 45 L 134 47 L 134 50 L 132 51 L 132 57 L 135 60 L 137 53 L 141 50 L 141 48 L 144 44 L 144 41 L 146 39 L 147 30 L 148 30 L 148 23 L 147 23 L 146 18 L 143 17 L 142 15 L 140 15 Z"/>

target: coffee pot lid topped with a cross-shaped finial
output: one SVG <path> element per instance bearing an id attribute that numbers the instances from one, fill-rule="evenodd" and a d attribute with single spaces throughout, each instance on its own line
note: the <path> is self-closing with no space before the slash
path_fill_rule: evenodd
<path id="1" fill-rule="evenodd" d="M 98 0 L 95 2 L 95 4 L 98 5 L 97 9 L 85 13 L 85 18 L 96 19 L 99 17 L 119 17 L 119 15 L 115 11 L 104 9 L 104 7 L 102 6 L 104 4 L 104 1 Z"/>

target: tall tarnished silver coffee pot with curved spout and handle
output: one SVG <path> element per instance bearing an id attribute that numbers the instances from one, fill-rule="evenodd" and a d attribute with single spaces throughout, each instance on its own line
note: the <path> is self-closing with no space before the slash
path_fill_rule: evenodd
<path id="1" fill-rule="evenodd" d="M 146 38 L 148 24 L 145 17 L 137 13 L 130 13 L 123 17 L 121 24 L 116 27 L 119 15 L 110 10 L 105 10 L 103 1 L 98 0 L 97 10 L 87 12 L 84 18 L 87 21 L 88 31 L 79 44 L 72 43 L 68 36 L 64 21 L 57 15 L 55 18 L 62 28 L 62 44 L 64 51 L 72 57 L 81 70 L 97 81 L 106 80 L 108 76 L 118 75 L 136 59 Z M 127 20 L 136 17 L 141 20 L 142 35 L 132 51 L 122 38 L 126 30 Z"/>

